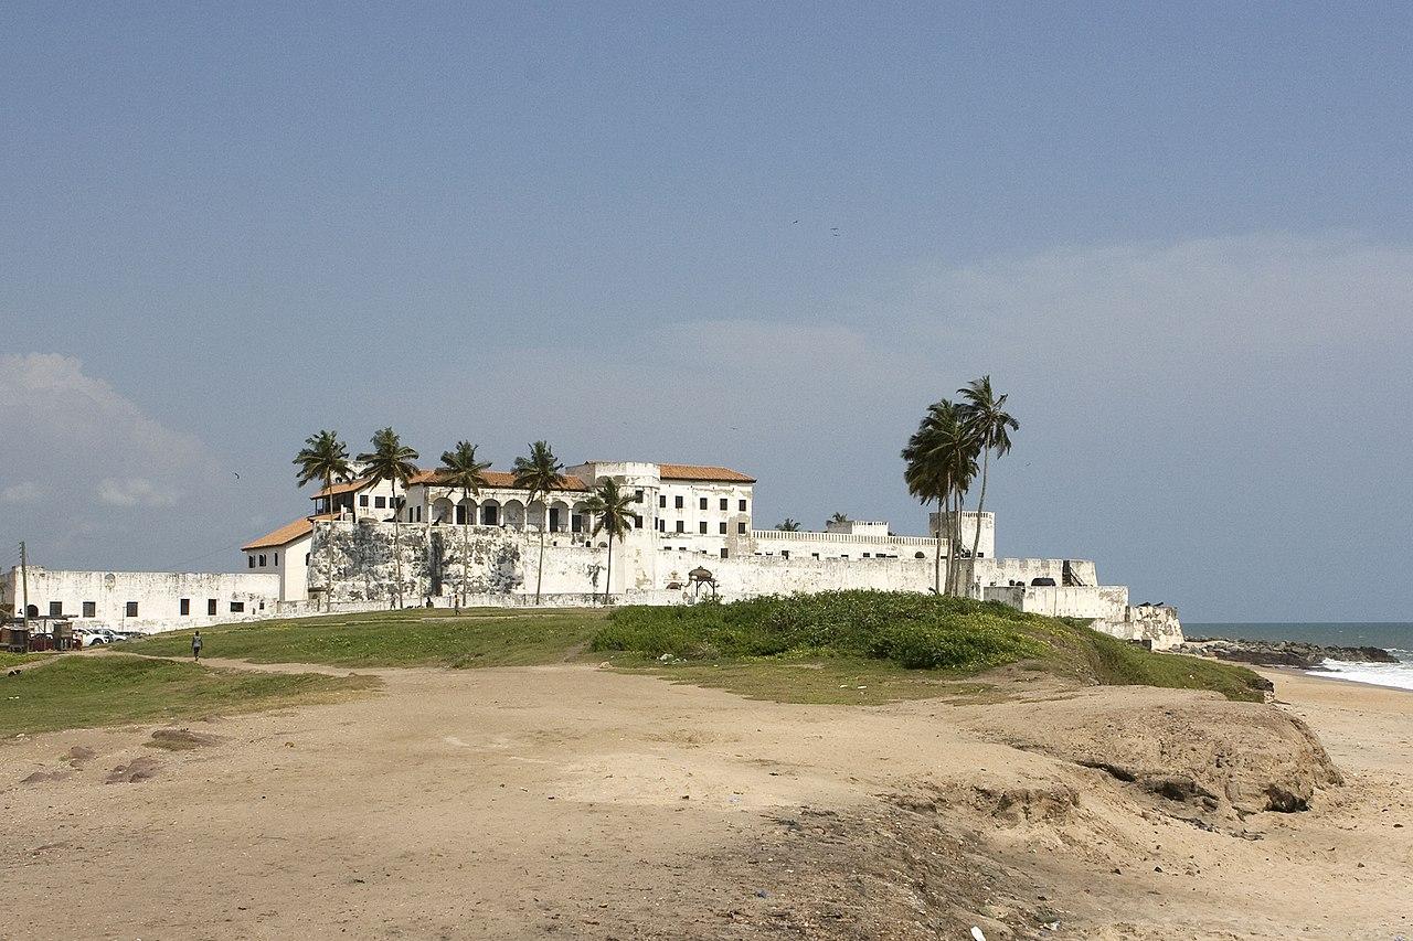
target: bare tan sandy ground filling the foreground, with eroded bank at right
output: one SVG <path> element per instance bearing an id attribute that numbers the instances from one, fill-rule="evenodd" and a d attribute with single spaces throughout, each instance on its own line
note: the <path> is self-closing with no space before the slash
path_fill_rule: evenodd
<path id="1" fill-rule="evenodd" d="M 0 743 L 0 937 L 1413 937 L 1406 692 L 1010 675 L 998 702 L 805 706 L 370 673 L 165 747 Z"/>

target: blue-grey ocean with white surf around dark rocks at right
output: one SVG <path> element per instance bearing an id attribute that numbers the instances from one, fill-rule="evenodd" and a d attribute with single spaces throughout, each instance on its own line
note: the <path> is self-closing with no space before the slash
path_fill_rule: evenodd
<path id="1" fill-rule="evenodd" d="M 1383 647 L 1397 657 L 1399 663 L 1341 663 L 1338 660 L 1325 660 L 1325 670 L 1320 670 L 1318 674 L 1332 680 L 1352 680 L 1379 687 L 1413 690 L 1413 623 L 1184 623 L 1183 634 L 1187 637 L 1304 640 L 1327 647 Z"/>

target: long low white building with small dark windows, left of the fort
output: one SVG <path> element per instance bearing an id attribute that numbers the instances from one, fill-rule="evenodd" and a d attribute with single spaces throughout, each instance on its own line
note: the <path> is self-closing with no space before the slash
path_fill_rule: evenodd
<path id="1" fill-rule="evenodd" d="M 268 617 L 280 600 L 273 574 L 82 572 L 30 565 L 0 576 L 0 609 L 71 617 L 114 630 L 172 630 Z"/>

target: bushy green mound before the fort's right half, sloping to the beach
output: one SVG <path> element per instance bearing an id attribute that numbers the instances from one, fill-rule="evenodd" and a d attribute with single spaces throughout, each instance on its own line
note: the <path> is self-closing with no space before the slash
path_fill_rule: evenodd
<path id="1" fill-rule="evenodd" d="M 1263 698 L 1260 678 L 1243 667 L 1150 653 L 1091 630 L 1087 622 L 899 592 L 623 608 L 592 646 L 636 654 L 637 665 L 675 680 L 801 702 L 945 695 L 957 691 L 950 681 L 1012 663 L 1081 684 Z M 666 664 L 656 663 L 664 657 Z"/>

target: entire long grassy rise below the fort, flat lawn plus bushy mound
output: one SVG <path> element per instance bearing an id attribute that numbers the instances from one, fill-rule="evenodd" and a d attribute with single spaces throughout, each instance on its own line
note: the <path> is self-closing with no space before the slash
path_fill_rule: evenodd
<path id="1" fill-rule="evenodd" d="M 681 682 L 790 702 L 974 695 L 1003 664 L 1080 684 L 1215 690 L 1259 701 L 1249 670 L 1153 654 L 1084 622 L 995 602 L 899 592 L 825 592 L 690 608 L 370 612 L 202 630 L 203 656 L 253 663 L 509 667 L 608 660 Z M 191 632 L 122 650 L 185 657 Z M 667 663 L 658 658 L 667 654 Z M 863 690 L 859 690 L 863 687 Z M 968 692 L 968 690 L 971 692 Z"/>

